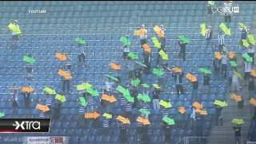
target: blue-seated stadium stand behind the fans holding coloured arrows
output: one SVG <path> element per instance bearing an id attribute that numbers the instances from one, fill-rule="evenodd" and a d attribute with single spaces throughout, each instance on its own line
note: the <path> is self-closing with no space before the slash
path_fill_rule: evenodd
<path id="1" fill-rule="evenodd" d="M 216 5 L 222 5 L 216 2 Z M 240 7 L 240 13 L 232 17 L 228 24 L 233 34 L 226 36 L 226 47 L 229 51 L 241 54 L 238 43 L 240 31 L 238 23 L 243 22 L 246 26 L 252 25 L 255 2 L 236 2 Z M 46 14 L 30 14 L 29 10 L 46 10 Z M 62 93 L 62 78 L 58 70 L 65 62 L 58 61 L 55 53 L 68 54 L 71 51 L 73 60 L 71 68 L 71 89 L 65 94 L 66 102 L 62 103 L 60 121 L 54 122 L 50 133 L 46 134 L 18 134 L 18 136 L 69 136 L 70 143 L 119 143 L 119 129 L 115 118 L 121 114 L 120 100 L 114 103 L 114 118 L 110 125 L 109 135 L 104 137 L 101 128 L 94 129 L 92 121 L 87 121 L 85 128 L 78 125 L 79 102 L 77 87 L 86 78 L 100 93 L 100 97 L 94 97 L 94 106 L 100 110 L 100 98 L 104 87 L 106 74 L 110 74 L 110 62 L 122 65 L 122 43 L 119 41 L 122 35 L 131 41 L 131 52 L 138 54 L 138 61 L 142 62 L 142 49 L 139 38 L 134 36 L 134 30 L 144 24 L 148 30 L 148 42 L 152 48 L 152 67 L 157 57 L 157 49 L 154 48 L 150 38 L 156 36 L 153 27 L 162 24 L 166 28 L 166 50 L 169 54 L 169 66 L 178 66 L 184 73 L 194 74 L 198 78 L 198 95 L 202 97 L 203 108 L 207 115 L 203 116 L 202 136 L 209 137 L 214 126 L 214 100 L 226 100 L 228 94 L 226 80 L 214 80 L 213 74 L 210 78 L 210 94 L 202 94 L 203 74 L 199 68 L 204 67 L 212 70 L 214 55 L 211 49 L 205 50 L 206 41 L 200 34 L 200 24 L 207 21 L 206 2 L 199 1 L 2 1 L 0 2 L 0 108 L 6 114 L 5 118 L 38 118 L 38 103 L 45 104 L 43 88 L 48 86 L 54 88 L 57 93 Z M 18 20 L 22 34 L 17 46 L 9 48 L 10 30 L 8 24 Z M 224 18 L 218 14 L 214 15 L 214 22 L 206 24 L 214 27 L 213 38 L 217 38 L 220 31 L 219 24 Z M 190 43 L 186 46 L 186 61 L 178 57 L 178 35 L 186 35 Z M 78 66 L 78 54 L 80 49 L 75 38 L 86 41 L 85 66 Z M 33 78 L 26 80 L 25 63 L 22 58 L 31 54 L 34 59 Z M 124 65 L 122 65 L 125 67 Z M 229 66 L 230 67 L 230 66 Z M 128 72 L 122 69 L 122 86 L 129 86 Z M 145 83 L 152 85 L 158 77 L 154 74 L 142 76 Z M 171 143 L 178 142 L 185 136 L 194 137 L 188 123 L 192 113 L 192 96 L 190 82 L 184 78 L 183 85 L 185 94 L 177 97 L 174 79 L 171 74 L 166 76 L 165 92 L 160 94 L 160 99 L 168 100 L 173 106 L 169 113 L 178 113 L 176 106 L 185 106 L 186 113 L 181 128 L 171 128 Z M 23 98 L 18 98 L 18 114 L 12 114 L 10 110 L 10 87 L 33 86 L 35 91 L 31 93 L 33 102 L 30 102 L 31 112 L 23 108 Z M 20 95 L 20 94 L 19 94 Z M 55 96 L 55 95 L 54 95 Z M 54 96 L 52 99 L 54 99 Z M 153 110 L 149 120 L 151 122 L 148 130 L 150 143 L 164 143 L 164 134 L 160 123 L 162 122 L 161 110 Z M 132 111 L 133 118 L 127 131 L 129 143 L 136 143 L 138 132 L 136 118 L 139 114 L 137 109 Z M 48 118 L 49 116 L 46 116 Z M 255 122 L 252 122 L 250 134 L 255 131 Z M 233 131 L 232 131 L 233 132 Z M 254 132 L 255 134 L 255 132 Z M 4 137 L 12 134 L 1 134 L 0 143 L 4 143 Z M 198 144 L 194 140 L 191 144 Z M 208 143 L 205 139 L 204 144 Z M 227 144 L 227 143 L 226 143 Z"/>

